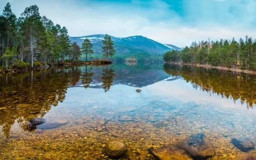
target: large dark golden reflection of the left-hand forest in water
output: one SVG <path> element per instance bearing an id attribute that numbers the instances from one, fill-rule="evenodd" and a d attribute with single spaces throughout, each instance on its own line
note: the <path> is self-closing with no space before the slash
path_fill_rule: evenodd
<path id="1" fill-rule="evenodd" d="M 0 125 L 4 135 L 9 136 L 16 120 L 24 128 L 31 118 L 44 116 L 52 105 L 62 102 L 67 87 L 79 76 L 74 68 L 0 76 Z"/>

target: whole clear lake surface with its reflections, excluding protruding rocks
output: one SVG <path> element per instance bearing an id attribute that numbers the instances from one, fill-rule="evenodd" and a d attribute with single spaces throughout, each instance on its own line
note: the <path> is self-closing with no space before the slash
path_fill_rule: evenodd
<path id="1" fill-rule="evenodd" d="M 3 75 L 0 80 L 0 159 L 107 159 L 105 144 L 118 139 L 128 146 L 121 159 L 150 160 L 148 148 L 175 146 L 198 132 L 213 143 L 212 159 L 231 159 L 242 153 L 231 138 L 247 136 L 256 142 L 255 76 L 114 64 Z M 121 121 L 122 115 L 133 121 Z M 28 121 L 37 116 L 46 123 L 28 129 Z M 256 155 L 255 150 L 249 153 Z"/>

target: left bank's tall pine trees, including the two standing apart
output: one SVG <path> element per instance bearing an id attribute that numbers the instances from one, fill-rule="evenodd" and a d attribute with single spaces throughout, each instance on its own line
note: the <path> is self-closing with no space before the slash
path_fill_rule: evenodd
<path id="1" fill-rule="evenodd" d="M 105 35 L 103 56 L 113 56 L 115 49 L 109 35 Z M 54 24 L 46 16 L 41 17 L 39 7 L 26 7 L 21 16 L 12 12 L 10 3 L 0 15 L 0 65 L 35 68 L 56 65 L 64 61 L 80 60 L 81 54 L 93 53 L 89 39 L 80 47 L 70 42 L 66 27 Z M 87 60 L 87 58 L 86 58 Z"/>

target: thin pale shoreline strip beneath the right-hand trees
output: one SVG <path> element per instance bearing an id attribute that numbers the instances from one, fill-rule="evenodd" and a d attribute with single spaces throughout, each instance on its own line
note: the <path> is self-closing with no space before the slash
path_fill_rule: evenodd
<path id="1" fill-rule="evenodd" d="M 178 64 L 178 65 L 186 65 L 186 66 L 195 66 L 195 67 L 202 67 L 202 68 L 215 68 L 218 70 L 228 70 L 232 72 L 238 72 L 238 73 L 247 73 L 247 74 L 256 74 L 256 71 L 254 70 L 240 70 L 240 69 L 235 69 L 235 68 L 229 68 L 229 67 L 222 67 L 222 66 L 211 66 L 211 65 L 206 65 L 206 64 L 191 64 L 191 63 L 170 63 L 170 64 Z"/>

